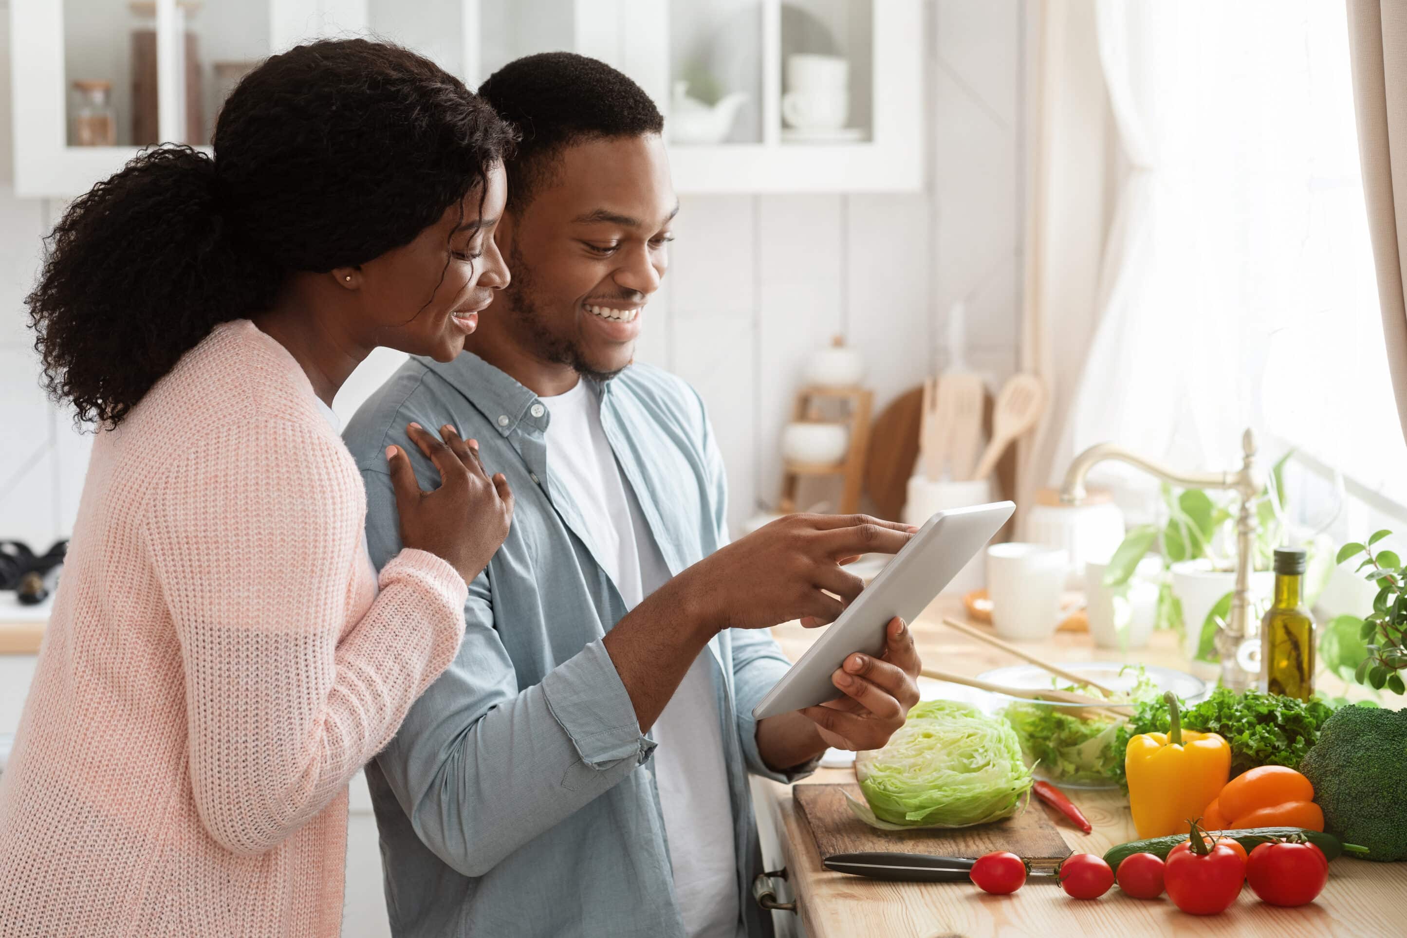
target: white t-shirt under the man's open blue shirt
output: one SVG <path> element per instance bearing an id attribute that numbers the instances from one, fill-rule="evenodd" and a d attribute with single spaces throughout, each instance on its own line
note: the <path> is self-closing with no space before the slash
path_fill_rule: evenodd
<path id="1" fill-rule="evenodd" d="M 547 471 L 581 512 L 592 548 L 628 608 L 670 579 L 635 492 L 616 465 L 590 381 L 553 398 Z M 723 735 L 705 648 L 656 720 L 654 778 L 674 866 L 674 892 L 691 938 L 736 938 L 737 856 Z"/>

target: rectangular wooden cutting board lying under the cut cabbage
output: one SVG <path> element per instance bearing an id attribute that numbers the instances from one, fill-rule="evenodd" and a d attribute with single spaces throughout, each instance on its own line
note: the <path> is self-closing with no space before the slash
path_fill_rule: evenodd
<path id="1" fill-rule="evenodd" d="M 796 807 L 810 827 L 822 859 L 836 854 L 864 851 L 976 859 L 983 854 L 1005 849 L 1024 856 L 1036 869 L 1054 869 L 1071 854 L 1055 824 L 1045 814 L 1045 809 L 1034 797 L 1024 811 L 995 824 L 957 830 L 881 831 L 850 811 L 843 795 L 846 790 L 864 800 L 858 785 L 792 786 L 792 797 L 796 799 Z"/>

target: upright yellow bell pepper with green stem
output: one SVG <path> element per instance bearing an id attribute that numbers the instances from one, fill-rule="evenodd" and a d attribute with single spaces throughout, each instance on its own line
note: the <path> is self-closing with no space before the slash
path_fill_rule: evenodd
<path id="1" fill-rule="evenodd" d="M 1178 698 L 1169 690 L 1164 699 L 1172 716 L 1169 731 L 1135 735 L 1124 755 L 1128 807 L 1140 840 L 1189 833 L 1188 821 L 1202 817 L 1231 773 L 1231 745 L 1216 733 L 1183 730 Z"/>

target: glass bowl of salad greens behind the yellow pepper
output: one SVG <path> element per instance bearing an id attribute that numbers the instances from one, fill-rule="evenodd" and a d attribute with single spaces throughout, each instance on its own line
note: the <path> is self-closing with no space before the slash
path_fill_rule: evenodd
<path id="1" fill-rule="evenodd" d="M 1062 661 L 1061 668 L 1114 690 L 1133 690 L 1140 679 L 1140 665 L 1119 661 Z M 1196 703 L 1210 692 L 1206 682 L 1185 671 L 1142 665 L 1142 675 L 1157 688 L 1157 695 L 1172 690 L 1188 703 Z M 1059 688 L 1086 693 L 1033 664 L 995 668 L 978 676 L 1009 688 Z M 1119 788 L 1113 778 L 1119 758 L 1113 744 L 1123 720 L 1117 716 L 1095 712 L 1089 705 L 1026 700 L 1005 693 L 986 695 L 985 709 L 1005 716 L 1016 730 L 1021 754 L 1036 778 L 1072 789 Z"/>

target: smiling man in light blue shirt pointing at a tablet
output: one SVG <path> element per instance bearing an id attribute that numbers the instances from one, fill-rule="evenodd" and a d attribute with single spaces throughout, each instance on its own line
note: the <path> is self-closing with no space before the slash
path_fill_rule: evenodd
<path id="1" fill-rule="evenodd" d="M 426 457 L 453 458 L 408 444 L 408 422 L 477 439 L 456 454 L 516 495 L 457 660 L 367 766 L 393 928 L 764 934 L 747 772 L 794 779 L 827 745 L 882 745 L 919 671 L 893 620 L 882 658 L 836 672 L 840 700 L 756 723 L 788 668 L 765 627 L 833 620 L 861 588 L 841 563 L 912 529 L 792 516 L 727 541 L 702 402 L 630 366 L 678 211 L 660 113 L 571 53 L 519 59 L 480 93 L 523 131 L 497 235 L 512 285 L 464 354 L 408 361 L 346 432 L 378 564 L 400 547 L 393 481 L 411 473 L 404 457 L 388 473 L 387 446 L 428 484 Z"/>

